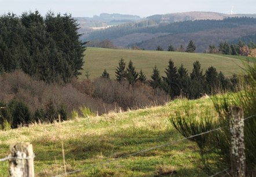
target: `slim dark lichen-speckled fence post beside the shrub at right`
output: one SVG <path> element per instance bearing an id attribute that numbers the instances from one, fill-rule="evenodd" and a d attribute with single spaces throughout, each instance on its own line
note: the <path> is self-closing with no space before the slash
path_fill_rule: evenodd
<path id="1" fill-rule="evenodd" d="M 246 154 L 244 152 L 244 115 L 242 108 L 231 106 L 229 115 L 231 132 L 231 174 L 246 176 Z"/>

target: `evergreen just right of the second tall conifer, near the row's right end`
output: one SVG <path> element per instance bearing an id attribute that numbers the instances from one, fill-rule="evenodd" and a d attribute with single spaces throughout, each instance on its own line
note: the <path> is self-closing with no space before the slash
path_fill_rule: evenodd
<path id="1" fill-rule="evenodd" d="M 217 93 L 218 73 L 213 66 L 206 69 L 206 91 L 208 94 Z"/>

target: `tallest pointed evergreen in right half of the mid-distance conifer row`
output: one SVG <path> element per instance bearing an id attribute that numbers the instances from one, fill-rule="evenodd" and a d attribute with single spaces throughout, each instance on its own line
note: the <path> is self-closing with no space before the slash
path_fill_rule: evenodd
<path id="1" fill-rule="evenodd" d="M 180 88 L 178 84 L 177 68 L 174 67 L 174 62 L 170 59 L 169 65 L 166 68 L 166 77 L 163 77 L 164 90 L 170 95 L 171 98 L 180 94 Z"/>

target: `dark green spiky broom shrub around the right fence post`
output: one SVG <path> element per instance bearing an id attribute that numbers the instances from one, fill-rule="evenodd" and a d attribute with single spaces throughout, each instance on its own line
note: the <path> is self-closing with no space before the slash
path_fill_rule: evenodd
<path id="1" fill-rule="evenodd" d="M 247 73 L 242 83 L 242 91 L 236 94 L 216 95 L 212 97 L 214 112 L 207 109 L 191 113 L 191 106 L 185 105 L 184 110 L 171 117 L 171 123 L 184 136 L 200 134 L 222 127 L 218 131 L 204 134 L 191 139 L 200 148 L 200 166 L 207 174 L 214 174 L 230 164 L 230 134 L 228 130 L 228 115 L 230 106 L 243 108 L 244 138 L 246 145 L 246 174 L 256 175 L 256 62 L 253 65 L 244 64 Z M 214 116 L 211 116 L 214 115 Z"/>

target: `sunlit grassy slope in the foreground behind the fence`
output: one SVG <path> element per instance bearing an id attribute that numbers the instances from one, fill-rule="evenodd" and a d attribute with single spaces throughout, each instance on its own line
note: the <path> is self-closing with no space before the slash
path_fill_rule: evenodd
<path id="1" fill-rule="evenodd" d="M 210 99 L 189 102 L 195 110 L 213 106 Z M 184 101 L 175 100 L 165 106 L 0 131 L 0 157 L 7 156 L 9 145 L 15 142 L 31 142 L 36 176 L 61 174 L 63 141 L 68 171 L 88 168 L 70 176 L 154 176 L 159 168 L 175 170 L 176 176 L 206 176 L 195 163 L 198 148 L 188 140 L 116 158 L 181 139 L 169 117 L 182 104 Z M 0 176 L 7 174 L 8 162 L 0 162 Z"/>

